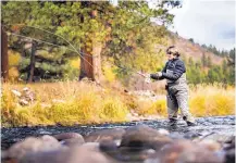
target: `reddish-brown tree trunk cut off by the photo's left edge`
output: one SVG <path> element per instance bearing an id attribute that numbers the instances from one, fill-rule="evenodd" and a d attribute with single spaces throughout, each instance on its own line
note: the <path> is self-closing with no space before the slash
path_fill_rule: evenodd
<path id="1" fill-rule="evenodd" d="M 1 27 L 1 77 L 3 82 L 9 79 L 8 35 Z"/>

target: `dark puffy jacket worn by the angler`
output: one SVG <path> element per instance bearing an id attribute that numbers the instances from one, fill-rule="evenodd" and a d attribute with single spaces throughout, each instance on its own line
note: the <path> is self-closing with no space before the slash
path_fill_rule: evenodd
<path id="1" fill-rule="evenodd" d="M 166 71 L 173 71 L 173 74 L 167 74 Z M 167 61 L 165 63 L 164 68 L 162 70 L 162 76 L 159 77 L 157 74 L 151 74 L 151 78 L 153 79 L 170 79 L 170 80 L 177 80 L 183 73 L 186 72 L 186 67 L 185 64 L 182 60 L 179 60 L 178 58 L 173 59 L 171 61 Z"/>

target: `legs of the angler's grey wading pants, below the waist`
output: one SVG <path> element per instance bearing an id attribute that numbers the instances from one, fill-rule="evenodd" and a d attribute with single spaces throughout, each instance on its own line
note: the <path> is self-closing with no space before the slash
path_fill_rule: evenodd
<path id="1" fill-rule="evenodd" d="M 191 123 L 195 122 L 194 117 L 189 113 L 187 84 L 169 86 L 166 98 L 170 120 L 177 120 L 177 112 L 179 109 L 184 121 Z"/>

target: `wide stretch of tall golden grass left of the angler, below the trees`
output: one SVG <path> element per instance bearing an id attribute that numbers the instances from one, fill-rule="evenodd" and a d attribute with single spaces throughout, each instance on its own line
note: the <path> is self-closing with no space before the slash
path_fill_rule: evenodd
<path id="1" fill-rule="evenodd" d="M 96 87 L 94 84 L 67 82 L 27 85 L 37 95 L 29 106 L 16 104 L 13 88 L 25 85 L 3 85 L 1 117 L 3 125 L 63 125 L 124 122 L 127 104 L 117 93 Z M 58 102 L 57 102 L 58 101 Z"/>

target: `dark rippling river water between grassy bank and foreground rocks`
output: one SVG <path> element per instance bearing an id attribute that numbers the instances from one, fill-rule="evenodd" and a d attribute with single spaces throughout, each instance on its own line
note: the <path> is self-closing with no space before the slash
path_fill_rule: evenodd
<path id="1" fill-rule="evenodd" d="M 117 124 L 101 125 L 75 125 L 75 126 L 34 126 L 34 127 L 12 127 L 1 128 L 1 148 L 8 149 L 11 145 L 21 141 L 28 136 L 54 135 L 60 133 L 78 133 L 83 136 L 98 129 L 127 128 L 137 125 L 148 125 L 152 128 L 164 128 L 171 134 L 185 135 L 186 137 L 204 136 L 218 134 L 224 136 L 235 136 L 235 115 L 199 117 L 196 120 L 198 126 L 187 127 L 184 121 L 178 121 L 176 128 L 167 126 L 167 120 L 139 121 Z"/>

